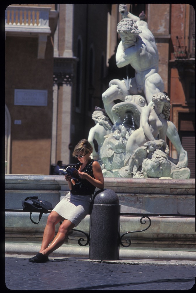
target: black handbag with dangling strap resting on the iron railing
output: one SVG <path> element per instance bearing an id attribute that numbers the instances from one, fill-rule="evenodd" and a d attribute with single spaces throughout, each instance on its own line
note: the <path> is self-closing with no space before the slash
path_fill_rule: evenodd
<path id="1" fill-rule="evenodd" d="M 39 221 L 43 214 L 48 214 L 48 211 L 53 209 L 51 202 L 46 200 L 39 200 L 37 196 L 29 196 L 22 201 L 22 207 L 24 212 L 30 212 L 30 220 L 34 224 L 39 224 L 34 222 L 31 218 L 33 212 L 39 213 Z"/>

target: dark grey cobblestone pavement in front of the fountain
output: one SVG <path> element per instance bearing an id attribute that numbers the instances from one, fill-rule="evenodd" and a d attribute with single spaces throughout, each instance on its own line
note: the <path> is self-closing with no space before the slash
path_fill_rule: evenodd
<path id="1" fill-rule="evenodd" d="M 47 263 L 31 263 L 30 257 L 5 257 L 6 288 L 2 292 L 6 289 L 195 292 L 196 268 L 190 264 L 112 263 L 72 257 L 49 257 Z"/>

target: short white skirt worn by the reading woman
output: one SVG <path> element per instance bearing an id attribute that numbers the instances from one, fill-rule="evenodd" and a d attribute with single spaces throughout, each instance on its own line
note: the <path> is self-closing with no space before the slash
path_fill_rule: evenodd
<path id="1" fill-rule="evenodd" d="M 73 195 L 69 192 L 53 211 L 71 221 L 76 227 L 89 214 L 91 199 L 92 195 Z"/>

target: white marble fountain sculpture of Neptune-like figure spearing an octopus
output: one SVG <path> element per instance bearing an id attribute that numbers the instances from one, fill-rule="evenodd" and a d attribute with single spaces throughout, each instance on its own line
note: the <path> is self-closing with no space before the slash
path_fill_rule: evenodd
<path id="1" fill-rule="evenodd" d="M 103 93 L 104 109 L 95 109 L 96 125 L 89 132 L 93 147 L 93 139 L 98 143 L 92 157 L 100 162 L 104 177 L 188 179 L 187 152 L 168 120 L 171 105 L 158 74 L 155 38 L 143 20 L 144 12 L 134 16 L 125 4 L 119 5 L 119 12 L 123 18 L 117 25 L 121 42 L 116 64 L 119 68 L 131 64 L 135 76 L 129 79 L 127 73 L 124 80 L 113 79 Z M 169 157 L 166 136 L 178 159 Z"/>

